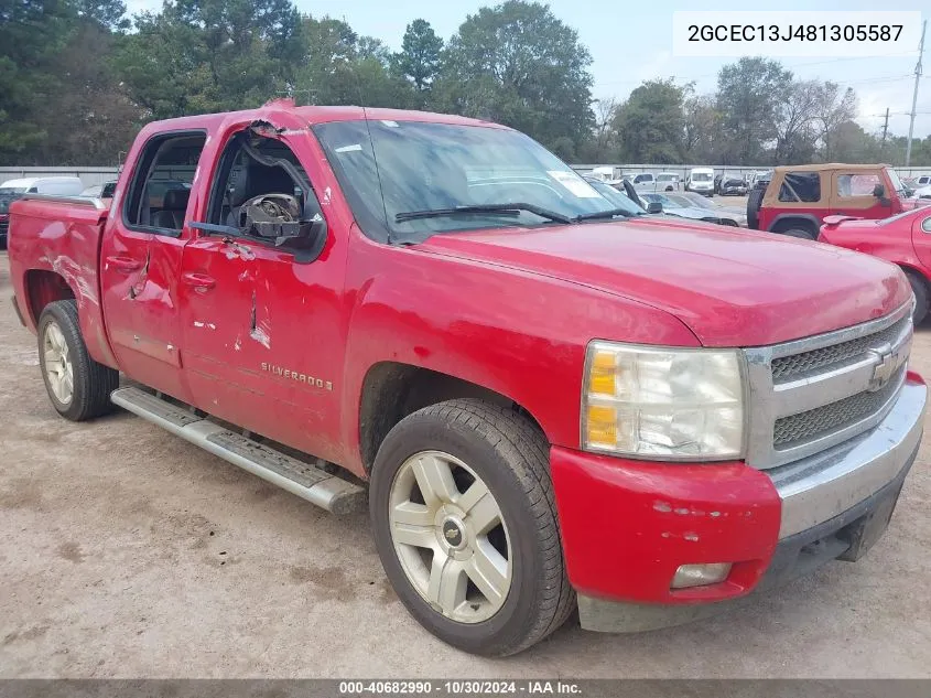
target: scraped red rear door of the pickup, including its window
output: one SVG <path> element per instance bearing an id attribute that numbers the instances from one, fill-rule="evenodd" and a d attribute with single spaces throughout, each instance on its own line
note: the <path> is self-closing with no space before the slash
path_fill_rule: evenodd
<path id="1" fill-rule="evenodd" d="M 187 399 L 181 376 L 178 273 L 203 131 L 160 133 L 134 158 L 100 250 L 107 333 L 120 369 Z"/>

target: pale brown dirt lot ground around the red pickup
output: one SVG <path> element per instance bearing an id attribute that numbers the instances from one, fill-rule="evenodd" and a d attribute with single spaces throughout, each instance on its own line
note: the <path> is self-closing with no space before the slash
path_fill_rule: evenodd
<path id="1" fill-rule="evenodd" d="M 0 676 L 931 676 L 931 442 L 885 539 L 711 621 L 452 649 L 338 519 L 156 427 L 53 411 L 0 253 Z M 931 375 L 931 326 L 912 365 Z M 637 573 L 631 570 L 631 573 Z"/>

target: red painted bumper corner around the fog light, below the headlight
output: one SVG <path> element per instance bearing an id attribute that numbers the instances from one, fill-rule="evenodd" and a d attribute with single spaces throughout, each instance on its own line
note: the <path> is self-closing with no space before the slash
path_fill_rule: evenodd
<path id="1" fill-rule="evenodd" d="M 582 593 L 654 603 L 750 591 L 779 537 L 772 481 L 744 463 L 663 464 L 553 448 L 569 578 Z M 722 583 L 670 590 L 680 565 L 733 562 Z"/>

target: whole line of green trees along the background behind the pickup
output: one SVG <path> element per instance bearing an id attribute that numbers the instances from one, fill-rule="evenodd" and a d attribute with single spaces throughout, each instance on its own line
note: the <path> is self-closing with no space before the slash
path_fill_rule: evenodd
<path id="1" fill-rule="evenodd" d="M 714 94 L 651 79 L 592 99 L 592 58 L 546 4 L 506 0 L 447 41 L 411 21 L 400 51 L 294 0 L 0 0 L 0 164 L 111 164 L 152 119 L 297 104 L 432 109 L 517 128 L 584 162 L 901 164 L 905 139 L 854 122 L 856 95 L 776 61 L 725 65 Z M 931 165 L 931 137 L 912 164 Z"/>

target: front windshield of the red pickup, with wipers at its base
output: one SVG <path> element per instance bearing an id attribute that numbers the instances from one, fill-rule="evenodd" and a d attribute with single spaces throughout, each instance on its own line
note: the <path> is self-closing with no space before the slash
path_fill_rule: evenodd
<path id="1" fill-rule="evenodd" d="M 529 227 L 617 205 L 542 146 L 508 129 L 422 121 L 314 127 L 357 223 L 370 237 Z"/>

